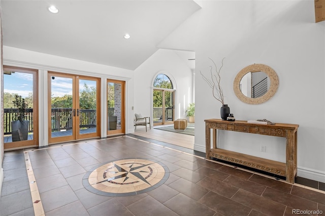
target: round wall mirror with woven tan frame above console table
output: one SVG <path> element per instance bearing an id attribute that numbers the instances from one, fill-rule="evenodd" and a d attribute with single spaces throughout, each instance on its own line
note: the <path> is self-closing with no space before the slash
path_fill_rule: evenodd
<path id="1" fill-rule="evenodd" d="M 278 89 L 278 76 L 265 64 L 244 67 L 236 76 L 234 91 L 245 103 L 259 104 L 270 99 Z"/>

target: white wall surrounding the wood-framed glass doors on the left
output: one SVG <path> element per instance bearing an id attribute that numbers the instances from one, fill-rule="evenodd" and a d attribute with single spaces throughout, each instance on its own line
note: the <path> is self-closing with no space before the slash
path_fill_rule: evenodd
<path id="1" fill-rule="evenodd" d="M 4 46 L 4 65 L 39 69 L 39 146 L 47 146 L 47 71 L 102 78 L 101 101 L 106 101 L 106 79 L 126 81 L 126 131 L 133 129 L 134 71 L 76 59 Z M 106 103 L 101 104 L 101 136 L 106 137 Z"/>

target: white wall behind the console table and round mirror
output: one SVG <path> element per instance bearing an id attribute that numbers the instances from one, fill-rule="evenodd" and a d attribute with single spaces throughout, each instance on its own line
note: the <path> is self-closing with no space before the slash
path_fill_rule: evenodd
<path id="1" fill-rule="evenodd" d="M 200 76 L 212 58 L 221 69 L 225 103 L 236 120 L 268 119 L 299 124 L 298 176 L 325 182 L 325 31 L 315 23 L 314 1 L 201 1 L 196 43 L 196 134 L 194 150 L 205 152 L 204 119 L 220 118 L 221 103 Z M 233 90 L 238 72 L 262 63 L 279 77 L 268 101 L 251 105 Z M 197 129 L 198 128 L 198 129 Z M 220 131 L 221 148 L 285 161 L 285 139 Z M 261 146 L 266 152 L 261 152 Z"/>

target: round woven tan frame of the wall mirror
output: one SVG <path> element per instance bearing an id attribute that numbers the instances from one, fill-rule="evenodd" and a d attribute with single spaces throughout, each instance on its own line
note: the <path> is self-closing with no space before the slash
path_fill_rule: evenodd
<path id="1" fill-rule="evenodd" d="M 270 88 L 267 91 L 267 93 L 261 97 L 257 97 L 257 98 L 246 97 L 240 90 L 240 81 L 245 74 L 249 72 L 258 72 L 258 71 L 263 71 L 265 74 L 267 74 L 271 82 Z M 245 103 L 260 104 L 273 97 L 275 92 L 278 90 L 278 86 L 279 86 L 278 76 L 271 67 L 265 64 L 251 64 L 244 67 L 241 71 L 239 71 L 234 81 L 234 92 L 236 96 Z"/>

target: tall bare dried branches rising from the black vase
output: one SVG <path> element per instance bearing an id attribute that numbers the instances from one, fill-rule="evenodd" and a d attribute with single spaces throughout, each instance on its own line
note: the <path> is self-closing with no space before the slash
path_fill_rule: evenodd
<path id="1" fill-rule="evenodd" d="M 217 68 L 217 65 L 214 63 L 214 61 L 209 58 L 212 62 L 213 62 L 213 66 L 210 66 L 210 79 L 208 79 L 207 77 L 205 77 L 202 73 L 202 71 L 200 70 L 200 74 L 203 78 L 203 80 L 210 86 L 210 88 L 212 88 L 212 95 L 213 97 L 220 101 L 222 104 L 224 104 L 224 100 L 223 100 L 223 90 L 221 88 L 221 85 L 220 85 L 220 71 L 221 71 L 221 68 L 223 66 L 223 59 L 221 61 L 221 66 L 220 68 L 218 69 Z M 213 69 L 214 68 L 214 69 Z"/>

